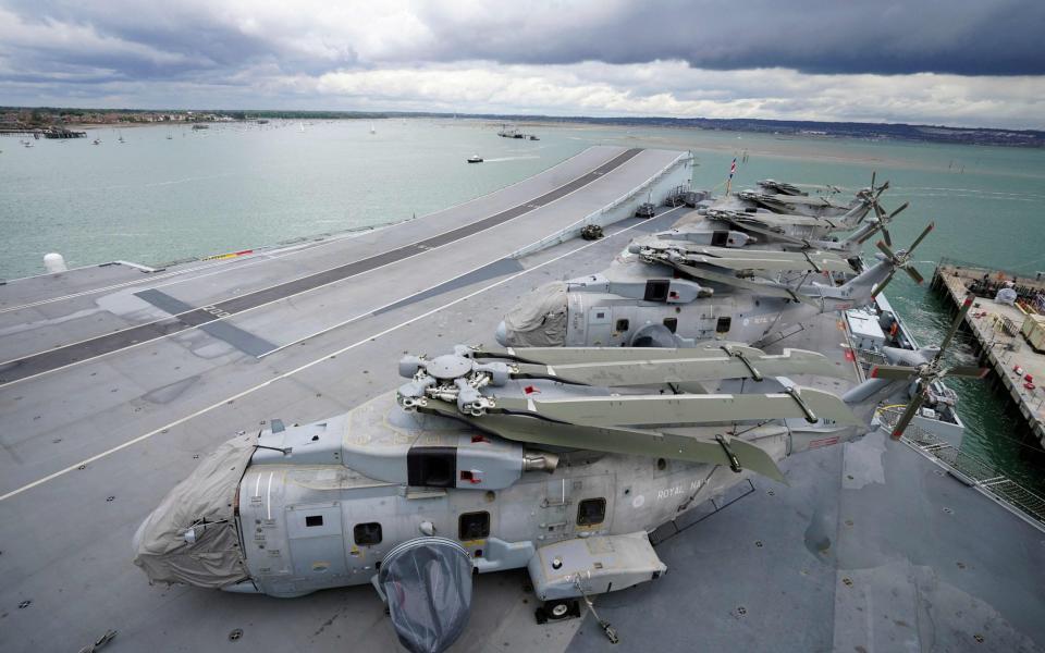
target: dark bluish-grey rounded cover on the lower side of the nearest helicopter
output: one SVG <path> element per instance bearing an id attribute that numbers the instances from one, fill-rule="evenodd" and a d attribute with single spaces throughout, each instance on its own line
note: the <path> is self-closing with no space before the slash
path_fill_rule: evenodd
<path id="1" fill-rule="evenodd" d="M 471 609 L 471 558 L 444 538 L 415 538 L 389 552 L 378 584 L 399 642 L 413 653 L 445 651 Z"/>

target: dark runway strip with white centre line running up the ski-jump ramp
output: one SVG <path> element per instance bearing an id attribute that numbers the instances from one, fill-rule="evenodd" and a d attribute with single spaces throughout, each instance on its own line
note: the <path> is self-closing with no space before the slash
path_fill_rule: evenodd
<path id="1" fill-rule="evenodd" d="M 595 170 L 606 170 L 607 172 L 616 170 L 634 159 L 641 151 L 641 148 L 628 149 L 614 157 L 610 161 L 601 164 Z M 541 195 L 536 199 L 530 200 L 530 202 L 540 205 L 540 207 L 548 206 L 558 199 L 562 199 L 563 197 L 566 197 L 567 195 L 575 193 L 576 190 L 583 188 L 585 186 L 588 186 L 597 178 L 599 177 L 594 174 L 594 171 L 588 172 L 571 180 L 570 182 L 567 182 L 566 184 L 563 184 L 562 186 L 558 186 L 557 188 Z M 531 210 L 532 209 L 529 209 L 526 205 L 517 205 L 469 224 L 452 229 L 434 236 L 429 236 L 428 238 L 417 243 L 404 245 L 370 258 L 360 259 L 351 263 L 339 266 L 336 268 L 331 268 L 329 270 L 323 270 L 321 272 L 316 272 L 306 276 L 269 286 L 267 288 L 261 288 L 246 295 L 231 297 L 222 301 L 217 301 L 207 307 L 212 310 L 220 309 L 221 311 L 228 313 L 225 316 L 218 316 L 209 310 L 206 310 L 205 308 L 197 308 L 187 312 L 175 315 L 170 319 L 157 320 L 146 324 L 131 326 L 121 331 L 100 335 L 95 338 L 89 338 L 53 349 L 38 352 L 36 354 L 30 354 L 28 356 L 5 361 L 0 364 L 0 366 L 2 366 L 2 369 L 0 369 L 0 374 L 3 374 L 3 377 L 0 378 L 0 387 L 9 386 L 20 381 L 26 381 L 41 374 L 53 372 L 74 365 L 79 365 L 82 362 L 86 362 L 87 360 L 93 360 L 108 354 L 113 354 L 115 352 L 121 352 L 131 347 L 168 337 L 170 335 L 182 333 L 209 322 L 224 320 L 225 318 L 235 316 L 237 313 L 261 308 L 281 299 L 286 299 L 288 297 L 315 291 L 339 281 L 362 274 L 364 272 L 370 272 L 372 270 L 413 258 L 418 254 L 423 254 L 427 251 L 425 248 L 426 246 L 434 249 L 442 247 L 443 245 L 458 242 L 499 224 L 514 220 L 515 218 L 524 215 Z"/>

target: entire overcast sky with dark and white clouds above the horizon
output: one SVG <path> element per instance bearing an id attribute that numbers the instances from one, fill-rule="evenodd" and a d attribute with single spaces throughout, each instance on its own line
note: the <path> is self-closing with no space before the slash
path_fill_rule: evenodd
<path id="1" fill-rule="evenodd" d="M 1045 0 L 0 0 L 0 104 L 1045 128 Z"/>

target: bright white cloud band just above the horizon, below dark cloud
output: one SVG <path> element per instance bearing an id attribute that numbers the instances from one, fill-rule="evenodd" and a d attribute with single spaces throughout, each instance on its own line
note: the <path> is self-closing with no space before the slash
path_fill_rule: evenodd
<path id="1" fill-rule="evenodd" d="M 667 115 L 1045 127 L 1045 78 L 703 71 L 679 61 L 490 62 L 343 70 L 286 79 L 367 108 L 553 115 Z"/>

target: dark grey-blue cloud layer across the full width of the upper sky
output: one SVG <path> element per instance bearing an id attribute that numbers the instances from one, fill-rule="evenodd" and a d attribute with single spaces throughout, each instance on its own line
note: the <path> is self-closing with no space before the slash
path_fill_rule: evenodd
<path id="1" fill-rule="evenodd" d="M 420 2 L 401 10 L 416 16 L 429 38 L 369 54 L 366 48 L 357 54 L 356 41 L 370 26 L 354 29 L 344 24 L 351 22 L 351 12 L 324 24 L 319 17 L 309 22 L 308 7 L 293 21 L 265 21 L 271 8 L 247 2 L 0 0 L 2 7 L 26 24 L 76 26 L 143 47 L 85 48 L 61 30 L 50 40 L 45 34 L 35 44 L 0 44 L 21 70 L 62 63 L 110 69 L 134 79 L 231 73 L 259 62 L 274 63 L 286 73 L 320 74 L 360 60 L 479 59 L 530 64 L 679 59 L 699 69 L 840 74 L 1045 73 L 1043 0 Z M 390 26 L 373 28 L 380 40 L 385 36 L 380 30 Z M 394 32 L 388 36 L 394 38 Z M 287 47 L 288 39 L 296 39 L 298 47 Z M 303 41 L 321 46 L 322 53 L 300 47 Z"/>

